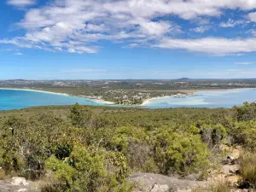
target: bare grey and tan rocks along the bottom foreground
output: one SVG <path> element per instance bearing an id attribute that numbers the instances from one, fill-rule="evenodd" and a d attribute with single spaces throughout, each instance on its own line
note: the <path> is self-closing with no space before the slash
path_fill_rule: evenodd
<path id="1" fill-rule="evenodd" d="M 230 148 L 229 148 L 230 149 Z M 219 170 L 210 172 L 207 181 L 178 179 L 153 173 L 134 173 L 128 178 L 134 185 L 133 192 L 203 192 L 208 191 L 214 183 L 229 183 L 234 186 L 231 191 L 250 191 L 248 189 L 236 189 L 240 181 L 238 160 L 240 149 L 232 148 L 223 160 L 223 166 Z M 23 177 L 12 177 L 0 180 L 0 192 L 39 192 L 39 183 L 26 181 Z"/>

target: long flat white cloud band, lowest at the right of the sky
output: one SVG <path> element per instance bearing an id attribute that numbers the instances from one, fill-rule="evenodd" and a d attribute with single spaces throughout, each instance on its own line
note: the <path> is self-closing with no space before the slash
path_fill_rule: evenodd
<path id="1" fill-rule="evenodd" d="M 164 38 L 154 47 L 164 49 L 185 49 L 211 55 L 230 55 L 256 51 L 256 38 L 199 38 L 177 39 Z"/>

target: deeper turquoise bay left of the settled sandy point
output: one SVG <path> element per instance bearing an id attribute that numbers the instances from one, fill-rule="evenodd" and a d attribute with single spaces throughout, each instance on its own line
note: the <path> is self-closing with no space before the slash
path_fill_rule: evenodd
<path id="1" fill-rule="evenodd" d="M 0 110 L 20 109 L 47 105 L 81 105 L 107 106 L 94 99 L 83 97 L 51 94 L 30 90 L 0 90 Z"/>

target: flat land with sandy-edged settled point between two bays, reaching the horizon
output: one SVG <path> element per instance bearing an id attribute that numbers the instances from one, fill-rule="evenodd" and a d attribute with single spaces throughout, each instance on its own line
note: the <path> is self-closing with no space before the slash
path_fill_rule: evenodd
<path id="1" fill-rule="evenodd" d="M 0 87 L 48 91 L 119 105 L 144 105 L 164 96 L 193 96 L 199 90 L 255 88 L 256 79 L 5 80 Z"/>

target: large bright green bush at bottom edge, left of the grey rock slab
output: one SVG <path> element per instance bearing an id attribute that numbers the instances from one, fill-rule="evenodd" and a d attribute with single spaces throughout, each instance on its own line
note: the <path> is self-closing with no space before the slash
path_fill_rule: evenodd
<path id="1" fill-rule="evenodd" d="M 84 148 L 79 143 L 73 146 L 66 160 L 51 156 L 46 160 L 46 166 L 71 191 L 115 189 L 129 174 L 123 154 L 95 147 Z"/>

